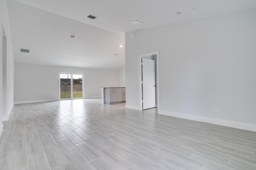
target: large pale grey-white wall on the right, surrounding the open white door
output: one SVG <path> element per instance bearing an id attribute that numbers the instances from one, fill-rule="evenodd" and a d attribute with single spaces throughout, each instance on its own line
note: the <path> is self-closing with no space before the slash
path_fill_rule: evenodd
<path id="1" fill-rule="evenodd" d="M 256 10 L 130 31 L 125 44 L 126 105 L 139 106 L 138 56 L 158 51 L 160 113 L 256 130 Z"/>

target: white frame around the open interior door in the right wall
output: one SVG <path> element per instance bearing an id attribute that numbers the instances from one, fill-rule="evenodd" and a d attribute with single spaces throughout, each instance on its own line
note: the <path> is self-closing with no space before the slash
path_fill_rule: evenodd
<path id="1" fill-rule="evenodd" d="M 144 55 L 139 55 L 138 56 L 138 67 L 139 67 L 139 110 L 142 110 L 142 86 L 141 86 L 141 84 L 142 84 L 142 68 L 141 68 L 141 64 L 142 64 L 142 62 L 141 62 L 141 60 L 142 60 L 142 58 L 144 58 L 144 57 L 149 57 L 149 56 L 152 56 L 152 55 L 156 55 L 156 68 L 155 68 L 155 72 L 157 72 L 157 77 L 156 77 L 156 82 L 157 82 L 157 84 L 156 84 L 156 101 L 157 101 L 157 105 L 156 105 L 156 107 L 158 107 L 158 110 L 159 110 L 159 104 L 160 104 L 160 102 L 159 102 L 159 62 L 158 62 L 158 57 L 159 57 L 159 55 L 158 55 L 158 51 L 155 51 L 155 52 L 152 52 L 152 53 L 147 53 L 147 54 L 144 54 Z"/>

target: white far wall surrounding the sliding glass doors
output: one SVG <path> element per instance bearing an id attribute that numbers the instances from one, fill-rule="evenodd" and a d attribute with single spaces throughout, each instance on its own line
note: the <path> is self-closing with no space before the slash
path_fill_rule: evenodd
<path id="1" fill-rule="evenodd" d="M 59 72 L 84 74 L 84 97 L 100 98 L 100 87 L 116 86 L 118 71 L 15 63 L 14 102 L 59 99 Z"/>

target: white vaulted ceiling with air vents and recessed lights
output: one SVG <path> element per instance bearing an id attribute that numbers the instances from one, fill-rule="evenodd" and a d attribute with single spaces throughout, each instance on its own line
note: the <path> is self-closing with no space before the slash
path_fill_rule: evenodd
<path id="1" fill-rule="evenodd" d="M 109 70 L 125 66 L 127 31 L 256 8 L 256 0 L 7 1 L 15 62 Z M 134 20 L 143 24 L 130 23 Z M 70 33 L 77 38 L 68 38 Z"/>

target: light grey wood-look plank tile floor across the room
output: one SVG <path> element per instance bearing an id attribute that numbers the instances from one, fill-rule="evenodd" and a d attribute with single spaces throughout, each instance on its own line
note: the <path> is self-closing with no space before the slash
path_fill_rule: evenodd
<path id="1" fill-rule="evenodd" d="M 17 104 L 0 170 L 256 170 L 256 133 L 100 99 Z"/>

